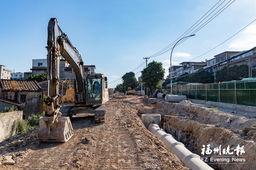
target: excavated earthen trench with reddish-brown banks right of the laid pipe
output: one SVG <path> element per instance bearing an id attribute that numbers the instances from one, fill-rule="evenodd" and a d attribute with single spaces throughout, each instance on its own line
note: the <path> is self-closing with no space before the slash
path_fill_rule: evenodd
<path id="1" fill-rule="evenodd" d="M 214 169 L 255 169 L 256 119 L 246 119 L 215 108 L 190 104 L 192 103 L 189 101 L 187 104 L 163 101 L 148 104 L 139 109 L 138 116 L 141 118 L 142 114 L 160 114 L 162 129 L 183 143 L 188 150 L 198 154 Z M 183 117 L 187 115 L 192 119 L 164 115 Z M 240 149 L 237 149 L 238 144 Z M 205 148 L 207 151 L 207 147 L 210 147 L 207 153 L 212 152 L 210 154 L 204 152 L 203 155 L 202 149 Z M 217 152 L 217 149 L 220 150 Z"/>

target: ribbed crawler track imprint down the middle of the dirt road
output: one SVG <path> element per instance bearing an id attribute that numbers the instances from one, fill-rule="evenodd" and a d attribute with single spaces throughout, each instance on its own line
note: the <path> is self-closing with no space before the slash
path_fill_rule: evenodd
<path id="1" fill-rule="evenodd" d="M 98 127 L 98 142 L 92 160 L 95 170 L 130 170 L 131 167 L 139 167 L 133 137 L 125 128 L 113 126 L 118 124 L 115 121 L 117 114 L 117 110 L 107 113 L 107 123 Z"/>

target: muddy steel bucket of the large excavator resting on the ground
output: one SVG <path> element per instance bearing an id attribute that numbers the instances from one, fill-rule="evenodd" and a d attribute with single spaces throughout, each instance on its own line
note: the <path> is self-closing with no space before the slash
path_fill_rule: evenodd
<path id="1" fill-rule="evenodd" d="M 44 121 L 45 117 L 39 119 L 38 138 L 42 142 L 68 142 L 73 136 L 74 129 L 72 128 L 69 117 L 59 117 L 58 123 Z"/>

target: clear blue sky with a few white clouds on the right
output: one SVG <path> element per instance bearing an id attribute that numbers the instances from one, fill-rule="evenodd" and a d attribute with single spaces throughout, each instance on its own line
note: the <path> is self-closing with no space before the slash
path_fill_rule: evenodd
<path id="1" fill-rule="evenodd" d="M 111 83 L 139 67 L 145 62 L 144 57 L 159 52 L 179 38 L 217 2 L 223 2 L 222 7 L 228 1 L 2 1 L 0 64 L 15 72 L 26 72 L 32 68 L 32 59 L 46 58 L 48 22 L 50 18 L 58 18 L 60 28 L 79 51 L 84 64 L 95 65 L 95 71 L 103 73 Z M 176 46 L 172 63 L 191 60 L 226 41 L 256 19 L 255 9 L 255 0 L 235 0 L 196 36 Z M 256 21 L 192 62 L 254 46 Z M 152 57 L 148 63 L 155 60 L 167 69 L 170 54 L 168 51 Z M 142 64 L 134 71 L 138 72 L 136 77 L 144 67 Z M 121 82 L 115 81 L 109 87 Z"/>

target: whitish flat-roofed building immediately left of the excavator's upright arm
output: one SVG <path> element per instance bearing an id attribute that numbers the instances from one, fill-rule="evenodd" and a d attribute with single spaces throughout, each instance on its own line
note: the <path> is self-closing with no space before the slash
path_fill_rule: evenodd
<path id="1" fill-rule="evenodd" d="M 32 75 L 39 75 L 43 72 L 47 73 L 47 59 L 32 60 Z"/>

